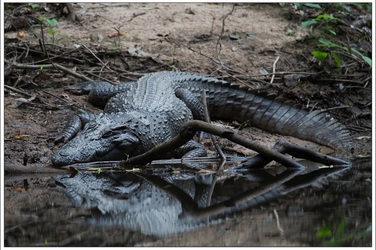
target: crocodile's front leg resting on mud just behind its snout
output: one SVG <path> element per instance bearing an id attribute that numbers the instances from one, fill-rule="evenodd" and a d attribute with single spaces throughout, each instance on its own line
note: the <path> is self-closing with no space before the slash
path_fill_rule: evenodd
<path id="1" fill-rule="evenodd" d="M 63 131 L 54 138 L 54 143 L 70 141 L 86 123 L 95 120 L 96 114 L 79 113 L 69 118 L 67 124 L 64 126 Z"/>

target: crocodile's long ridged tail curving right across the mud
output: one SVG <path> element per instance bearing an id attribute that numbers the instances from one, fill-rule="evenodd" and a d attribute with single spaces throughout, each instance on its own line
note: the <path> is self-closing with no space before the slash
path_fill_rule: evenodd
<path id="1" fill-rule="evenodd" d="M 189 89 L 200 96 L 206 89 L 211 117 L 247 122 L 269 132 L 310 140 L 333 149 L 352 148 L 349 130 L 321 110 L 310 111 L 292 100 L 256 89 L 203 77 L 190 80 Z M 195 83 L 199 84 L 195 84 Z"/>

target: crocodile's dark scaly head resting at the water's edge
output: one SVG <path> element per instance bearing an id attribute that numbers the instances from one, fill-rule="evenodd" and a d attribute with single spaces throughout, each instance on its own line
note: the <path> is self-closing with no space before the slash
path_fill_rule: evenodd
<path id="1" fill-rule="evenodd" d="M 126 113 L 98 116 L 52 156 L 52 164 L 126 159 L 140 144 L 138 123 L 138 119 Z"/>

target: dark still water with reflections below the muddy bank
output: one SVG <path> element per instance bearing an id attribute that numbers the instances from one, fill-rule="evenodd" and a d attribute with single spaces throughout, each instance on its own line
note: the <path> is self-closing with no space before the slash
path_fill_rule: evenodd
<path id="1" fill-rule="evenodd" d="M 370 246 L 371 160 L 5 177 L 8 246 Z"/>

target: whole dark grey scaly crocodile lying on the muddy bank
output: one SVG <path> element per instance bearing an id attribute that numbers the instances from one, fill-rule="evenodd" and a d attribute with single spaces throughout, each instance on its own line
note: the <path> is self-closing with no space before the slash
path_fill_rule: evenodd
<path id="1" fill-rule="evenodd" d="M 247 122 L 271 133 L 334 149 L 352 147 L 348 129 L 329 114 L 215 77 L 159 71 L 120 85 L 88 81 L 68 89 L 74 94 L 88 94 L 88 100 L 104 107 L 104 113 L 79 113 L 68 120 L 54 137 L 55 144 L 67 142 L 52 156 L 54 166 L 123 160 L 150 150 L 177 135 L 185 121 L 204 120 L 203 89 L 212 118 Z M 196 156 L 206 156 L 206 149 L 195 140 L 161 155 Z"/>

